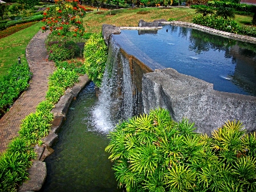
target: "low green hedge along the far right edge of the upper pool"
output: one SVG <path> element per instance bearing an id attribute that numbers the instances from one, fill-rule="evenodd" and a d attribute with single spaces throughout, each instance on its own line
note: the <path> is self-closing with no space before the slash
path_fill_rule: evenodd
<path id="1" fill-rule="evenodd" d="M 229 33 L 239 32 L 239 26 L 236 21 L 223 19 L 222 17 L 216 17 L 214 15 L 196 15 L 193 17 L 193 23 Z"/>

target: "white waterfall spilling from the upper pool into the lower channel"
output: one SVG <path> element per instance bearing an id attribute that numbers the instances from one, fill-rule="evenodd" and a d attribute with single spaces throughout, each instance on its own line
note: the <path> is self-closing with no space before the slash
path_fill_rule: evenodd
<path id="1" fill-rule="evenodd" d="M 97 131 L 109 132 L 118 122 L 132 117 L 136 100 L 132 90 L 129 60 L 111 38 L 99 101 L 92 111 Z"/>

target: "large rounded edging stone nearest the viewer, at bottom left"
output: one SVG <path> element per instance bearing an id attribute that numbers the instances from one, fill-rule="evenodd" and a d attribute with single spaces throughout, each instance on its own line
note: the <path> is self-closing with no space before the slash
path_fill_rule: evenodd
<path id="1" fill-rule="evenodd" d="M 34 161 L 31 168 L 28 170 L 29 180 L 26 180 L 20 186 L 20 192 L 39 191 L 44 184 L 47 170 L 46 165 L 42 161 Z"/>

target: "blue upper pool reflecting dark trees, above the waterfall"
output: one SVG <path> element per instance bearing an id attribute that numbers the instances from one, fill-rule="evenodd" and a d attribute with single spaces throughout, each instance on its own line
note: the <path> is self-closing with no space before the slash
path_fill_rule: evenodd
<path id="1" fill-rule="evenodd" d="M 153 70 L 174 68 L 212 83 L 214 90 L 256 96 L 256 44 L 173 25 L 158 31 L 121 30 L 113 37 Z"/>

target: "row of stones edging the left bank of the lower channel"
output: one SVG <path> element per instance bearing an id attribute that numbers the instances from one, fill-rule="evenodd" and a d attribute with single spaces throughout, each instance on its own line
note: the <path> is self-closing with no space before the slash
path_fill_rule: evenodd
<path id="1" fill-rule="evenodd" d="M 66 118 L 68 107 L 72 100 L 76 99 L 78 93 L 81 92 L 84 86 L 89 82 L 87 75 L 80 76 L 78 79 L 79 83 L 76 83 L 72 88 L 67 88 L 64 95 L 60 98 L 54 109 L 52 109 L 51 112 L 54 113 L 54 120 L 52 120 L 51 131 L 48 136 L 42 139 L 44 141 L 42 147 L 38 145 L 35 146 L 35 151 L 38 156 L 33 160 L 33 164 L 28 170 L 29 180 L 26 180 L 22 186 L 19 187 L 19 192 L 39 191 L 42 188 L 47 176 L 46 164 L 43 161 L 54 152 L 51 147 L 58 140 L 56 133 L 60 129 L 63 120 Z"/>

